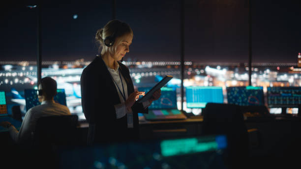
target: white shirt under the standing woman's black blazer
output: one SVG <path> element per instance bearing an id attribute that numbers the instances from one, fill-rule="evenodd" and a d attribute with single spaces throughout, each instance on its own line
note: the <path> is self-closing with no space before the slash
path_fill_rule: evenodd
<path id="1" fill-rule="evenodd" d="M 120 71 L 119 71 L 119 64 L 118 63 L 117 63 L 117 68 L 116 69 L 111 69 L 108 66 L 107 66 L 107 68 L 108 68 L 111 76 L 113 77 L 113 79 L 115 81 L 114 84 L 115 84 L 116 90 L 117 90 L 119 98 L 120 98 L 120 104 L 114 105 L 115 110 L 116 110 L 116 118 L 121 118 L 125 114 L 131 114 L 132 113 L 131 110 L 130 110 L 130 112 L 128 112 L 125 109 L 125 103 L 124 103 L 125 101 L 122 98 L 122 95 L 120 93 L 120 91 L 123 93 L 123 90 L 122 90 L 122 84 L 123 84 L 123 89 L 124 89 L 124 94 L 125 94 L 125 100 L 128 98 L 128 95 L 127 95 L 127 85 L 126 85 L 126 82 L 125 82 L 123 76 L 121 74 L 119 75 Z M 121 76 L 122 83 L 120 81 L 120 76 Z M 119 86 L 120 91 L 119 91 L 119 89 L 118 89 L 117 86 Z M 151 105 L 151 103 L 149 101 L 143 102 L 142 104 L 143 104 L 143 107 L 145 109 Z M 129 118 L 129 116 L 128 116 L 128 118 Z"/>

